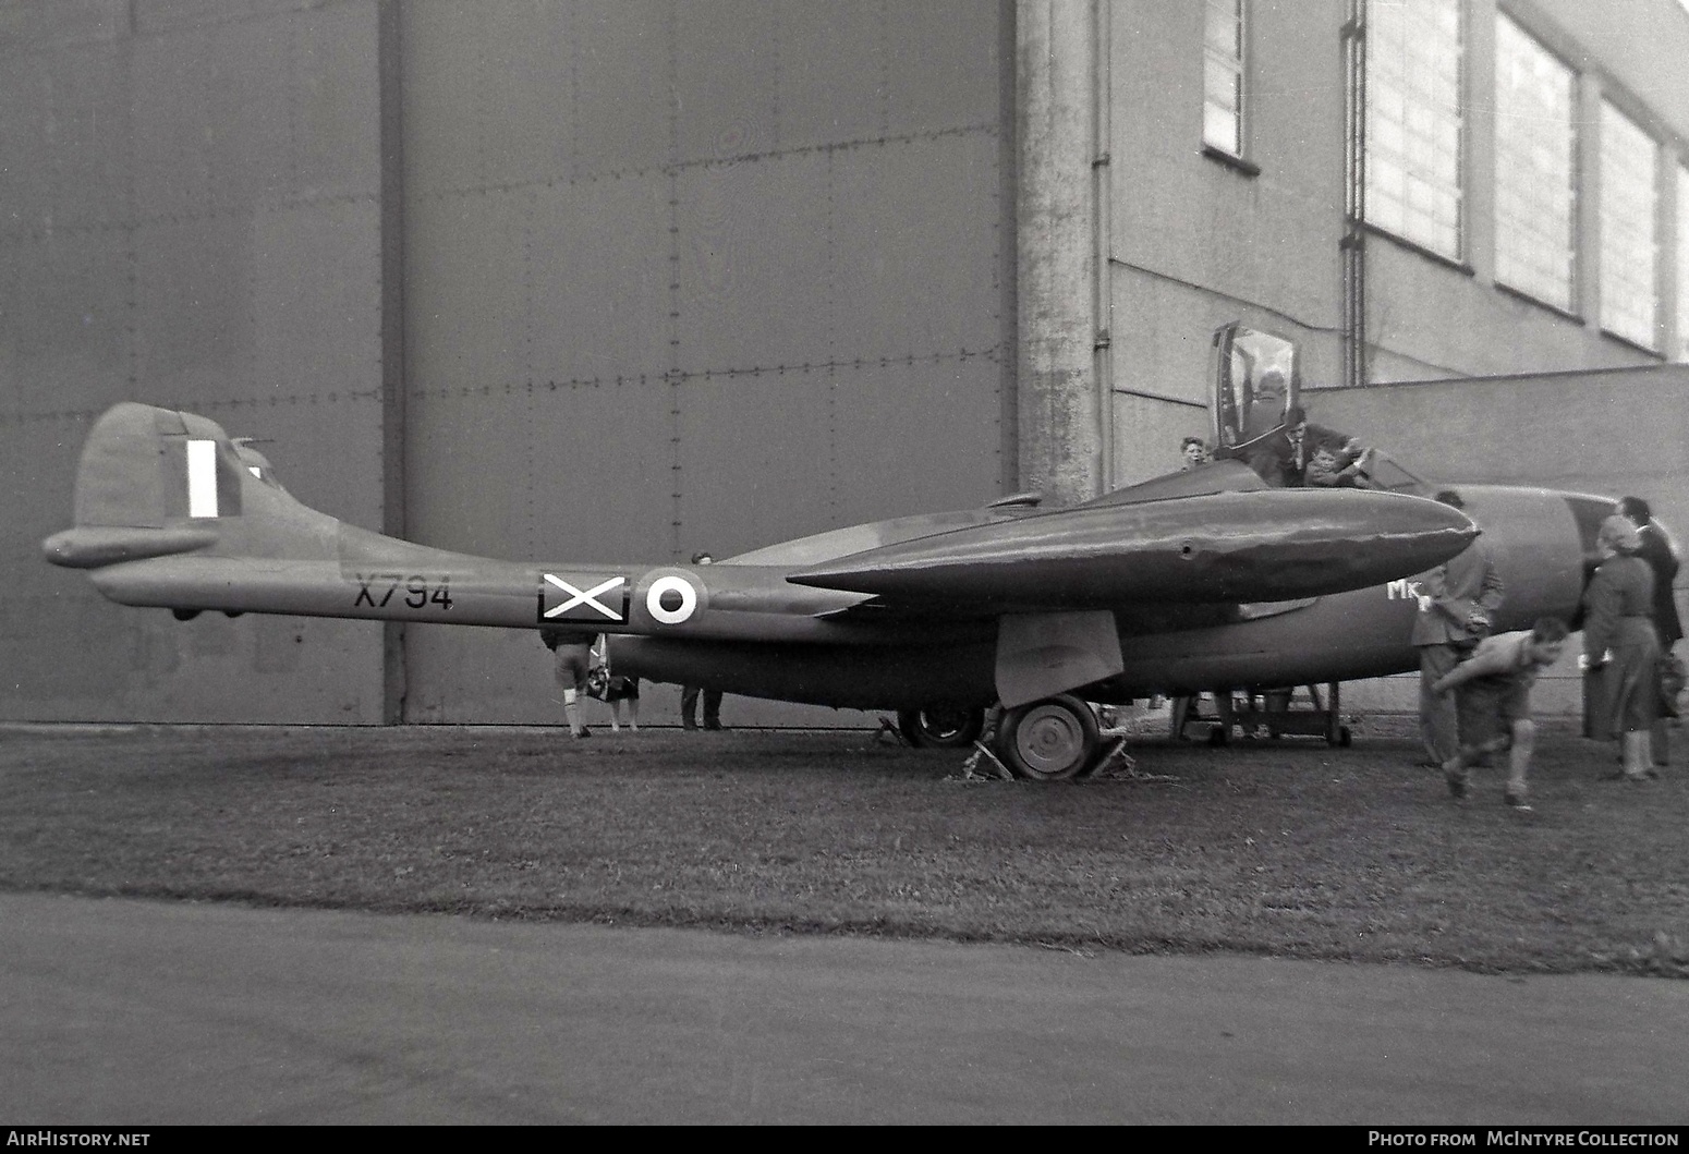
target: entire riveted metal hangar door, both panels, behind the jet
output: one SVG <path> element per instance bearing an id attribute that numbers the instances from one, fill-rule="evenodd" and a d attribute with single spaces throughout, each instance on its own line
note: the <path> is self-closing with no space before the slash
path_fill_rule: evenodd
<path id="1" fill-rule="evenodd" d="M 410 627 L 383 674 L 373 623 L 177 623 L 42 564 L 118 399 L 270 441 L 348 522 L 502 558 L 720 558 L 1003 492 L 1010 12 L 0 5 L 27 493 L 0 716 L 556 720 L 529 634 Z"/>

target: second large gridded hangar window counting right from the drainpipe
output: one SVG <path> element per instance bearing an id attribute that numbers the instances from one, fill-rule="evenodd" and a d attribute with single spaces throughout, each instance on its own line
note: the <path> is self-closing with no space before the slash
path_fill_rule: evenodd
<path id="1" fill-rule="evenodd" d="M 1495 279 L 1572 308 L 1576 76 L 1530 34 L 1495 27 Z"/>

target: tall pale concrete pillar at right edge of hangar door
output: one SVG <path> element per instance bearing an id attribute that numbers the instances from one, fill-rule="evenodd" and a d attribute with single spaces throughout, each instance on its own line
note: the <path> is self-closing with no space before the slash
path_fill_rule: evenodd
<path id="1" fill-rule="evenodd" d="M 1020 485 L 1052 502 L 1103 487 L 1094 32 L 1094 3 L 1017 0 Z"/>

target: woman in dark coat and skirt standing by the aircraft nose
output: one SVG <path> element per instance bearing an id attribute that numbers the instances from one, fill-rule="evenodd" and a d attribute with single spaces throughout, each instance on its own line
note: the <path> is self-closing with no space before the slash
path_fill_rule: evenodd
<path id="1" fill-rule="evenodd" d="M 1606 666 L 1610 732 L 1621 733 L 1625 777 L 1655 777 L 1648 730 L 1657 715 L 1655 679 L 1660 639 L 1654 630 L 1654 571 L 1635 556 L 1637 527 L 1620 515 L 1601 522 L 1601 566 L 1584 590 L 1584 654 L 1589 667 Z"/>

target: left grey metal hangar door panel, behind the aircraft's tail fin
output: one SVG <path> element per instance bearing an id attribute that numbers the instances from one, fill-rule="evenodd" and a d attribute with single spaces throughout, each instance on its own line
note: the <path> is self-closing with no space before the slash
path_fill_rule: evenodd
<path id="1" fill-rule="evenodd" d="M 373 3 L 0 7 L 0 715 L 378 721 L 378 627 L 106 603 L 52 569 L 117 400 L 272 439 L 382 522 Z"/>

